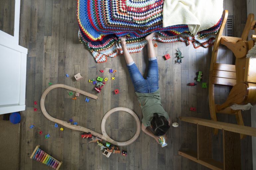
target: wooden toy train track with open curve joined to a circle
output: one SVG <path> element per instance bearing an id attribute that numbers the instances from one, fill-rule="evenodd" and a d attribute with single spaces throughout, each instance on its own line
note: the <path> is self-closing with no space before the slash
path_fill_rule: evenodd
<path id="1" fill-rule="evenodd" d="M 53 122 L 55 122 L 55 123 L 58 123 L 58 124 L 60 124 L 60 125 L 62 125 L 62 126 L 64 126 L 64 127 L 73 129 L 73 130 L 82 131 L 82 132 L 86 132 L 86 133 L 90 132 L 92 135 L 97 136 L 97 137 L 103 139 L 104 141 L 110 142 L 110 143 L 112 143 L 112 144 L 114 144 L 114 145 L 118 145 L 118 146 L 129 145 L 129 144 L 131 144 L 132 142 L 134 142 L 134 141 L 138 138 L 138 136 L 139 136 L 139 134 L 140 134 L 140 120 L 139 120 L 138 116 L 137 116 L 132 110 L 130 110 L 130 109 L 128 109 L 128 108 L 125 108 L 125 107 L 117 107 L 117 108 L 111 109 L 110 111 L 108 111 L 108 112 L 105 114 L 105 116 L 103 117 L 102 122 L 101 122 L 101 131 L 102 131 L 102 134 L 99 134 L 99 133 L 97 133 L 97 132 L 91 131 L 90 129 L 84 128 L 84 127 L 82 127 L 82 126 L 71 125 L 71 124 L 68 123 L 68 122 L 65 122 L 65 121 L 63 121 L 63 120 L 56 119 L 56 118 L 50 116 L 50 115 L 47 113 L 46 109 L 45 109 L 45 97 L 46 97 L 46 95 L 47 95 L 52 89 L 54 89 L 54 88 L 65 88 L 65 89 L 72 90 L 72 91 L 78 92 L 78 93 L 80 93 L 80 94 L 83 94 L 83 95 L 85 95 L 85 96 L 91 97 L 91 98 L 93 98 L 93 99 L 97 99 L 97 98 L 98 98 L 98 96 L 96 96 L 96 95 L 94 95 L 94 94 L 88 93 L 88 92 L 86 92 L 86 91 L 83 91 L 83 90 L 80 90 L 80 89 L 78 89 L 78 88 L 74 88 L 74 87 L 71 87 L 71 86 L 68 86 L 68 85 L 63 85 L 63 84 L 51 85 L 50 87 L 48 87 L 48 88 L 43 92 L 42 97 L 41 97 L 41 102 L 40 102 L 40 104 L 41 104 L 41 110 L 42 110 L 43 114 L 45 115 L 45 117 L 46 117 L 47 119 L 49 119 L 49 120 L 51 120 L 51 121 L 53 121 Z M 117 141 L 114 141 L 114 140 L 111 139 L 111 138 L 107 135 L 107 133 L 106 133 L 106 130 L 105 130 L 105 123 L 106 123 L 106 120 L 107 120 L 107 118 L 108 118 L 112 113 L 114 113 L 114 112 L 116 112 L 116 111 L 125 111 L 125 112 L 131 114 L 131 115 L 134 117 L 135 121 L 136 121 L 136 124 L 137 124 L 137 131 L 136 131 L 134 137 L 132 137 L 129 141 L 126 141 L 126 142 L 117 142 Z"/>

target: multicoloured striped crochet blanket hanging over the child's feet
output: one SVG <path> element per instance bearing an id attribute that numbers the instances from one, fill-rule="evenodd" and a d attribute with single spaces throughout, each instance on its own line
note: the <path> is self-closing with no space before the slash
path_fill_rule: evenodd
<path id="1" fill-rule="evenodd" d="M 145 36 L 156 32 L 153 40 L 183 41 L 194 48 L 214 43 L 221 19 L 213 27 L 192 36 L 187 25 L 163 28 L 164 0 L 77 0 L 78 37 L 90 50 L 97 63 L 122 54 L 120 36 L 128 35 L 130 53 L 141 51 Z"/>

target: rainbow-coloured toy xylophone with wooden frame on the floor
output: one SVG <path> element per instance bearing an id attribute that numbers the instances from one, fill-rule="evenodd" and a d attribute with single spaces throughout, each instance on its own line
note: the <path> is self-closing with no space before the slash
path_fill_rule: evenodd
<path id="1" fill-rule="evenodd" d="M 39 147 L 40 145 L 37 145 L 32 155 L 30 156 L 30 159 L 35 159 L 58 170 L 62 164 L 62 161 L 60 162 L 57 159 L 53 158 Z"/>

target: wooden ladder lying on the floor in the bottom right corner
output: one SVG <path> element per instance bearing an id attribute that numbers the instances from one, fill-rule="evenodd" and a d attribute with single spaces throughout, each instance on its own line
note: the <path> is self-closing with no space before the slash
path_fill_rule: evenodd
<path id="1" fill-rule="evenodd" d="M 214 170 L 241 170 L 240 135 L 256 136 L 256 128 L 194 117 L 179 117 L 197 125 L 197 150 L 179 150 L 179 155 Z M 212 156 L 212 128 L 222 130 L 223 162 Z M 244 168 L 243 168 L 244 169 Z"/>

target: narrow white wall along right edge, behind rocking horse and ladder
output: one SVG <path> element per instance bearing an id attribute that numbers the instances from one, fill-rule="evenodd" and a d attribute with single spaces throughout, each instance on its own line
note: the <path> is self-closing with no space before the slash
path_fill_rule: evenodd
<path id="1" fill-rule="evenodd" d="M 256 17 L 256 0 L 247 0 L 247 14 L 253 13 L 254 19 Z M 255 34 L 254 30 L 249 33 L 249 39 L 251 34 Z M 252 127 L 256 128 L 256 106 L 251 109 L 251 123 Z M 252 162 L 253 169 L 256 170 L 256 137 L 252 137 Z"/>

